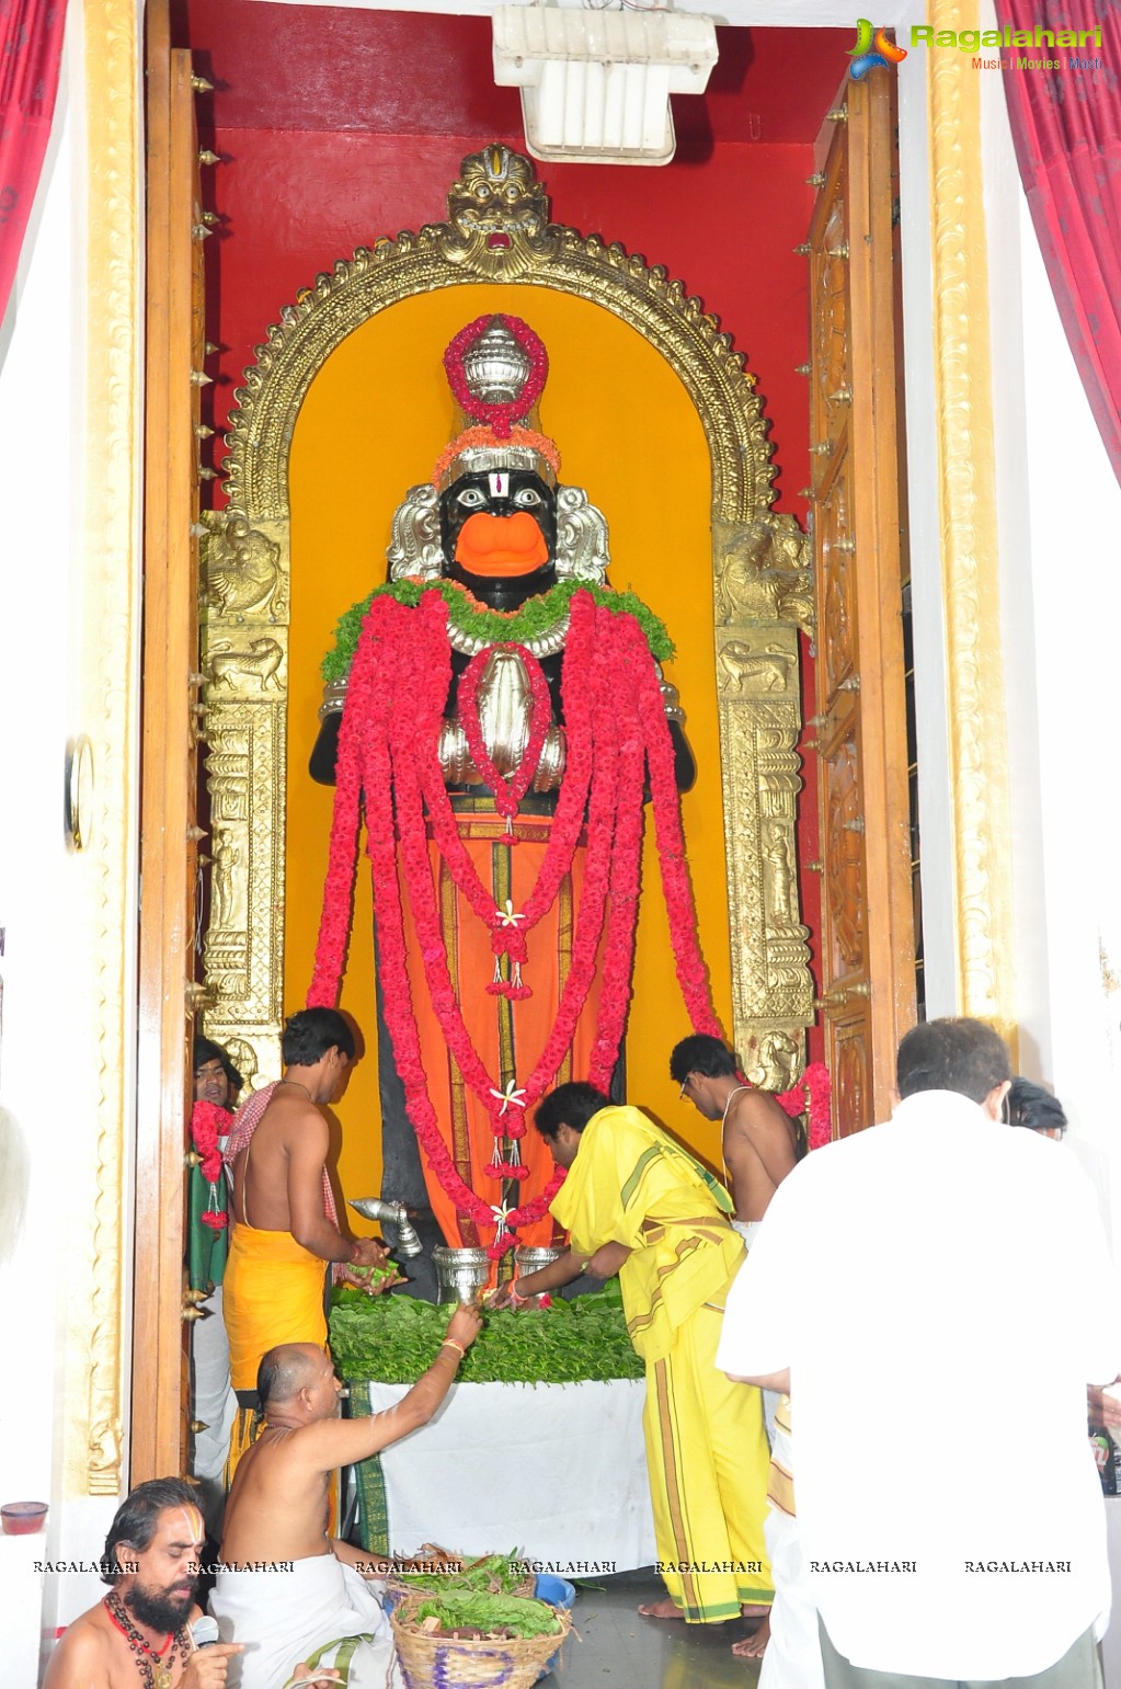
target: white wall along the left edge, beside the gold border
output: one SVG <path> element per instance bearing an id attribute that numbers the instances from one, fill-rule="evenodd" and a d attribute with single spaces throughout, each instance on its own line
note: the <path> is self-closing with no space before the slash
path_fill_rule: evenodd
<path id="1" fill-rule="evenodd" d="M 68 741 L 84 726 L 83 667 L 98 640 L 83 608 L 81 19 L 81 7 L 71 7 L 54 132 L 0 329 L 7 490 L 0 568 L 0 1103 L 22 1123 L 30 1147 L 24 1231 L 14 1257 L 0 1263 L 0 1502 L 51 1503 L 44 1535 L 0 1537 L 0 1679 L 22 1689 L 37 1682 L 41 1643 L 100 1593 L 95 1578 L 42 1576 L 34 1561 L 100 1559 L 118 1502 L 81 1493 L 73 1434 L 68 1447 L 71 1427 L 86 1414 L 81 1344 L 88 1331 L 81 1314 L 93 1258 L 93 1005 L 101 966 L 89 921 L 100 868 L 89 855 L 69 850 L 62 826 Z M 120 934 L 120 944 L 132 942 L 132 932 Z M 125 1236 L 130 1225 L 132 1214 L 122 1214 Z"/>

